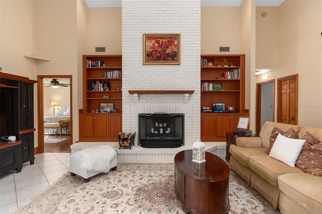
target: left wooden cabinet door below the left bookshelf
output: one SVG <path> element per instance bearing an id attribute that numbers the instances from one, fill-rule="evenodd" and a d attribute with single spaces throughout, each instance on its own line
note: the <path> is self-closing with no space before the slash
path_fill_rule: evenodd
<path id="1" fill-rule="evenodd" d="M 95 114 L 79 114 L 79 138 L 95 137 Z"/>

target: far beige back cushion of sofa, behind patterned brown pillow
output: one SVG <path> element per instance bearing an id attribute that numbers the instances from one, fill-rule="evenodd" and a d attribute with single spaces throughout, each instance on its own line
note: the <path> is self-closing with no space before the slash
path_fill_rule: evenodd
<path id="1" fill-rule="evenodd" d="M 268 148 L 270 145 L 270 136 L 272 134 L 273 128 L 278 127 L 282 131 L 286 132 L 289 128 L 293 128 L 298 133 L 298 125 L 290 125 L 290 124 L 282 124 L 282 123 L 276 123 L 272 121 L 266 121 L 261 129 L 261 132 L 259 134 L 259 137 L 262 139 L 263 147 Z"/>

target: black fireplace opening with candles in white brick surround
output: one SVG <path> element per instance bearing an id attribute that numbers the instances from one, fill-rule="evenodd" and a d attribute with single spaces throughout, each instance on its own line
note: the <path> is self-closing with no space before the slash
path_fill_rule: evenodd
<path id="1" fill-rule="evenodd" d="M 139 114 L 138 145 L 177 148 L 184 145 L 184 114 Z"/>

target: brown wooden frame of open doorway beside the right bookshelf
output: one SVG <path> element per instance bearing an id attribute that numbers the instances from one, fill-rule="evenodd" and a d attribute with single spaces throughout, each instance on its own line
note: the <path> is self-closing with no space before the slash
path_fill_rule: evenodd
<path id="1" fill-rule="evenodd" d="M 275 119 L 275 79 L 256 84 L 256 134 L 259 135 L 261 130 L 261 98 L 262 98 L 262 85 L 273 83 L 273 121 Z"/>

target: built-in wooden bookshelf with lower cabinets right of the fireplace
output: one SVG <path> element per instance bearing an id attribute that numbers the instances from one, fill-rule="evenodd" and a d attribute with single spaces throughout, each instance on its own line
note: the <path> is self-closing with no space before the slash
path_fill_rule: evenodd
<path id="1" fill-rule="evenodd" d="M 217 110 L 215 103 L 224 103 L 224 108 Z M 248 116 L 245 54 L 201 55 L 201 140 L 225 141 L 225 133 L 236 129 L 239 117 Z"/>

